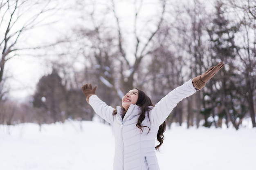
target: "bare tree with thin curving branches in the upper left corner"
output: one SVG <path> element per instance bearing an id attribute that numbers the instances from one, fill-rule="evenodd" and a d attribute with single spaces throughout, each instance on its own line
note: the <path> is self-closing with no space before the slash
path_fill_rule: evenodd
<path id="1" fill-rule="evenodd" d="M 5 64 L 26 46 L 24 33 L 46 24 L 45 19 L 56 10 L 51 0 L 1 0 L 0 2 L 0 84 L 3 83 Z M 22 37 L 23 36 L 23 37 Z M 23 38 L 23 40 L 22 40 Z M 2 85 L 1 85 L 2 86 Z M 3 88 L 0 89 L 0 94 Z"/>

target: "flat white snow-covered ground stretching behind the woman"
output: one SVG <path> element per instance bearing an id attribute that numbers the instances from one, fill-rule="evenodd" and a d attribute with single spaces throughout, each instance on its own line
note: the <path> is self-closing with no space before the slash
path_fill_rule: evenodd
<path id="1" fill-rule="evenodd" d="M 10 135 L 8 135 L 8 131 Z M 256 170 L 256 128 L 173 126 L 157 152 L 161 170 Z M 114 137 L 98 121 L 0 125 L 0 170 L 112 170 Z"/>

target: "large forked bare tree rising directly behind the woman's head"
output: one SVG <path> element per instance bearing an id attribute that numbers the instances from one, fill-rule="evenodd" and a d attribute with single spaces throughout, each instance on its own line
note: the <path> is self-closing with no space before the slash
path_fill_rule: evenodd
<path id="1" fill-rule="evenodd" d="M 137 73 L 141 71 L 141 62 L 150 58 L 150 54 L 157 49 L 158 45 L 154 42 L 154 38 L 163 21 L 165 1 L 156 3 L 161 12 L 154 16 L 155 20 L 150 17 L 143 18 L 147 20 L 144 23 L 140 23 L 140 12 L 146 2 L 135 1 L 133 4 L 135 13 L 129 17 L 129 19 L 132 18 L 130 20 L 133 20 L 133 24 L 128 26 L 127 30 L 125 29 L 125 26 L 127 27 L 124 22 L 125 18 L 119 16 L 117 11 L 116 6 L 119 5 L 119 2 L 114 0 L 108 2 L 105 17 L 102 20 L 99 18 L 97 20 L 97 10 L 92 10 L 89 16 L 93 29 L 83 27 L 79 31 L 79 36 L 83 35 L 86 44 L 92 44 L 89 48 L 85 46 L 88 49 L 87 55 L 85 55 L 88 61 L 88 71 L 94 70 L 93 74 L 108 89 L 105 90 L 105 93 L 114 91 L 114 96 L 120 99 L 130 88 L 139 85 Z M 96 9 L 96 7 L 93 6 L 92 9 Z M 111 24 L 106 22 L 106 18 L 110 19 L 110 17 Z M 139 29 L 143 24 L 145 24 L 144 27 Z M 109 94 L 109 96 L 110 98 L 114 97 L 113 94 Z"/>

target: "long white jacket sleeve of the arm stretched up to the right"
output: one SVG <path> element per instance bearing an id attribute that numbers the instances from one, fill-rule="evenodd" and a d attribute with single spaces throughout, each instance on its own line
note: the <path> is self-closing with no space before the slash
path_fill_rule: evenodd
<path id="1" fill-rule="evenodd" d="M 193 95 L 197 90 L 192 84 L 192 79 L 185 82 L 183 85 L 175 88 L 173 91 L 163 97 L 155 107 L 150 111 L 150 121 L 155 126 L 160 126 L 165 119 L 170 115 L 171 111 L 182 99 Z"/>

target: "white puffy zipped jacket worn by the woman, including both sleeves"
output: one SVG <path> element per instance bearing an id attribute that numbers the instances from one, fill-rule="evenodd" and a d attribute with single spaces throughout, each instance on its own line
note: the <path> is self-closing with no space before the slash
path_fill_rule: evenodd
<path id="1" fill-rule="evenodd" d="M 108 121 L 114 129 L 115 157 L 114 170 L 159 170 L 155 154 L 155 141 L 159 126 L 165 121 L 173 108 L 182 99 L 195 93 L 192 79 L 163 97 L 155 107 L 149 111 L 142 122 L 143 132 L 137 128 L 140 108 L 130 105 L 124 119 L 121 118 L 121 107 L 117 106 L 117 114 L 112 115 L 115 108 L 101 101 L 97 95 L 89 98 L 89 104 L 94 111 Z M 147 114 L 146 114 L 147 115 Z M 150 121 L 149 121 L 150 120 Z"/>

